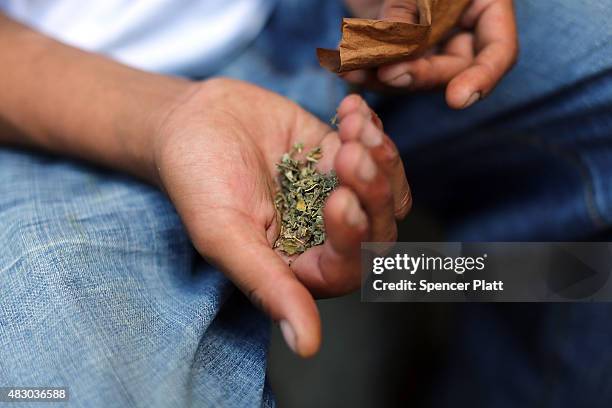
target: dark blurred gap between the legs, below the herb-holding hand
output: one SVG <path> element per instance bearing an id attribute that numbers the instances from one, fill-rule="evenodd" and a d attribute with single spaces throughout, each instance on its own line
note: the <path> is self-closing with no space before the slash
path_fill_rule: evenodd
<path id="1" fill-rule="evenodd" d="M 434 217 L 415 208 L 400 241 L 439 241 Z M 272 329 L 268 374 L 279 407 L 427 406 L 452 326 L 451 304 L 361 303 L 360 294 L 318 302 L 323 346 L 295 356 Z"/>

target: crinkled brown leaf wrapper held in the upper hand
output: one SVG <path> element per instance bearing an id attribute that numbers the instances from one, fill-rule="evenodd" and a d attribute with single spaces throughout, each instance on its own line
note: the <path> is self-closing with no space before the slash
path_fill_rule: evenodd
<path id="1" fill-rule="evenodd" d="M 471 0 L 417 0 L 419 24 L 345 18 L 339 50 L 317 49 L 322 67 L 335 73 L 404 61 L 437 44 Z"/>

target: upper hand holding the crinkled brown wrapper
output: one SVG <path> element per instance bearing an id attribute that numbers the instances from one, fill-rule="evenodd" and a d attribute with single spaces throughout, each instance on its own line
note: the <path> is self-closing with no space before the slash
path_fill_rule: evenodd
<path id="1" fill-rule="evenodd" d="M 347 0 L 362 17 L 416 23 L 416 0 Z M 377 14 L 374 14 L 377 11 Z M 473 0 L 460 30 L 439 49 L 412 61 L 381 67 L 375 75 L 343 75 L 353 83 L 410 91 L 446 86 L 450 107 L 465 109 L 488 95 L 514 65 L 518 38 L 512 0 Z"/>

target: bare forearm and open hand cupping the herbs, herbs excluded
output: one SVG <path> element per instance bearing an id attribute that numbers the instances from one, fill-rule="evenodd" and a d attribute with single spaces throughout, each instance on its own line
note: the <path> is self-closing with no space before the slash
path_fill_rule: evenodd
<path id="1" fill-rule="evenodd" d="M 196 249 L 280 322 L 288 345 L 321 342 L 314 297 L 359 286 L 360 242 L 394 241 L 411 196 L 382 123 L 358 96 L 332 130 L 293 102 L 229 79 L 190 82 L 128 68 L 0 15 L 0 145 L 43 149 L 159 186 Z M 326 202 L 327 242 L 275 252 L 276 168 L 295 142 L 321 145 L 341 186 Z"/>

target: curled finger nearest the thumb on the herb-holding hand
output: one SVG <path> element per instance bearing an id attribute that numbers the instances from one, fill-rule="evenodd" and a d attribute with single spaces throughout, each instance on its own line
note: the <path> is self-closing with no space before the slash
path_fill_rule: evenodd
<path id="1" fill-rule="evenodd" d="M 325 244 L 298 257 L 292 269 L 315 296 L 340 296 L 359 287 L 359 250 L 367 238 L 368 218 L 357 195 L 344 186 L 327 199 L 324 218 Z"/>

